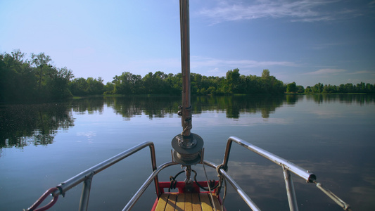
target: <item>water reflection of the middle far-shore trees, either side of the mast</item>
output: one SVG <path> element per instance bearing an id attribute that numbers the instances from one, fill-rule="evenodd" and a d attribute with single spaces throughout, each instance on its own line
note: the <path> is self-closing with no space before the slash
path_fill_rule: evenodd
<path id="1" fill-rule="evenodd" d="M 181 98 L 168 96 L 129 96 L 124 98 L 105 98 L 107 106 L 114 108 L 117 114 L 130 120 L 136 115 L 170 117 L 177 114 Z M 238 119 L 240 113 L 261 112 L 263 118 L 282 105 L 285 96 L 193 96 L 191 106 L 193 114 L 205 111 L 225 112 L 227 118 Z M 295 103 L 295 101 L 294 101 Z"/>

